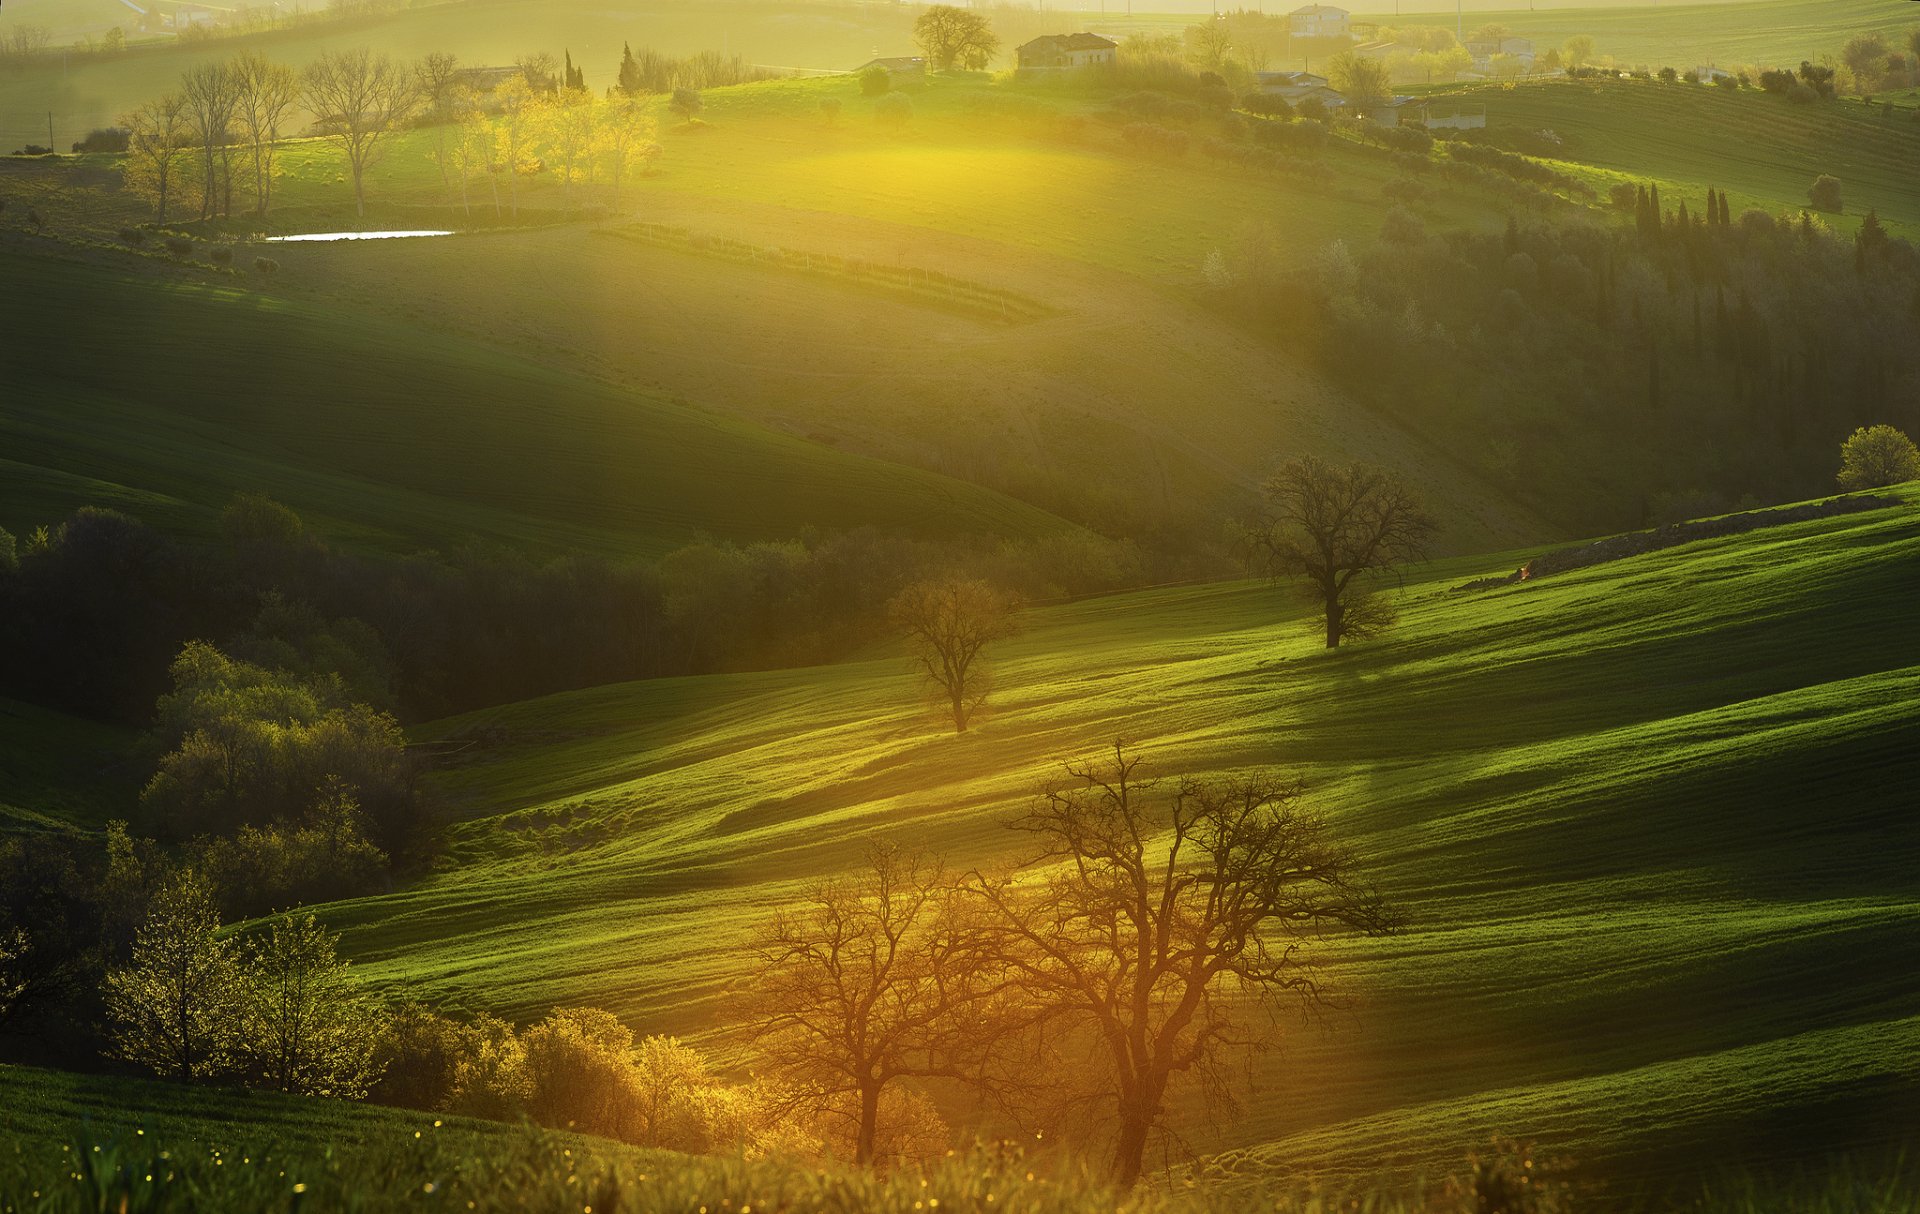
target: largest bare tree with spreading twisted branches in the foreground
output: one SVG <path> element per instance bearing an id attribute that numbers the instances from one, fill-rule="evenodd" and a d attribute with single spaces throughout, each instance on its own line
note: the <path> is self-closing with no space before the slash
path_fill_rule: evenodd
<path id="1" fill-rule="evenodd" d="M 1223 1078 L 1254 1043 L 1250 1003 L 1321 997 L 1308 966 L 1321 932 L 1398 926 L 1292 780 L 1181 780 L 1156 795 L 1140 765 L 1117 743 L 1108 761 L 1069 763 L 1014 822 L 1033 838 L 1021 868 L 1039 876 L 968 882 L 968 949 L 998 966 L 1035 1030 L 1066 1033 L 1064 1066 L 1112 1103 L 1121 1185 L 1140 1176 L 1169 1085 Z"/>

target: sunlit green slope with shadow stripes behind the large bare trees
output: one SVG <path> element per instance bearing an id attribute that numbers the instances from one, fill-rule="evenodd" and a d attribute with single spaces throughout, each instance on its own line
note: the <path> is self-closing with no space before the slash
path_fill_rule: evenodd
<path id="1" fill-rule="evenodd" d="M 371 978 L 534 1016 L 605 1005 L 743 1049 L 753 926 L 870 838 L 956 864 L 1058 757 L 1281 765 L 1407 934 L 1283 1020 L 1227 1170 L 1457 1158 L 1505 1129 L 1638 1168 L 1912 1124 L 1920 1058 L 1920 501 L 1494 592 L 1423 571 L 1384 643 L 1313 647 L 1261 586 L 1029 615 L 996 715 L 950 736 L 900 659 L 609 686 L 422 730 L 445 872 L 324 916 Z"/>

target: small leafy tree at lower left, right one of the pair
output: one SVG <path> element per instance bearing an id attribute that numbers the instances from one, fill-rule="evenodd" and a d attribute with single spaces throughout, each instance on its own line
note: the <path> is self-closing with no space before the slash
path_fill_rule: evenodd
<path id="1" fill-rule="evenodd" d="M 357 1101 L 378 1076 L 378 1003 L 353 980 L 334 934 L 282 916 L 246 957 L 240 1053 L 265 1087 Z"/>

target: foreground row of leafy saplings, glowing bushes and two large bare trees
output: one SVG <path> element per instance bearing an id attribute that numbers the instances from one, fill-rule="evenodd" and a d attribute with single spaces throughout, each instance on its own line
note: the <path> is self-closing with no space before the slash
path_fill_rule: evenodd
<path id="1" fill-rule="evenodd" d="M 1271 1005 L 1321 997 L 1308 966 L 1325 932 L 1400 924 L 1277 772 L 1160 784 L 1116 745 L 1066 765 L 1012 826 L 1029 839 L 1012 866 L 950 874 L 876 845 L 856 876 L 766 922 L 741 983 L 745 1081 L 676 1039 L 636 1041 L 603 1010 L 516 1030 L 386 1007 L 311 914 L 223 928 L 200 870 L 142 882 L 125 834 L 100 880 L 119 943 L 90 989 L 106 1053 L 180 1081 L 862 1164 L 943 1153 L 937 1099 L 972 1091 L 987 1116 L 1108 1135 L 1125 1185 L 1183 1083 L 1231 1099 L 1227 1068 Z M 48 866 L 8 847 L 6 889 L 44 887 Z M 0 905 L 21 909 L 35 903 Z M 6 922 L 0 1014 L 44 982 L 38 941 Z M 75 1035 L 75 1016 L 61 1032 Z"/>

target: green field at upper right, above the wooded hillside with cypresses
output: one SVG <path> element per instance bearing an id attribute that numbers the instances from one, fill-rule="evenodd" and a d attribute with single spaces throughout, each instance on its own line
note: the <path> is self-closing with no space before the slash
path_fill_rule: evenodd
<path id="1" fill-rule="evenodd" d="M 1705 204 L 1726 190 L 1734 211 L 1778 213 L 1807 206 L 1814 177 L 1830 173 L 1845 190 L 1845 215 L 1824 219 L 1851 231 L 1874 209 L 1889 231 L 1920 234 L 1920 119 L 1859 102 L 1795 106 L 1759 90 L 1663 85 L 1659 81 L 1538 81 L 1505 88 L 1467 85 L 1440 94 L 1486 106 L 1490 127 L 1553 131 L 1561 156 L 1605 198 L 1613 181 L 1657 181 L 1668 207 Z"/>

